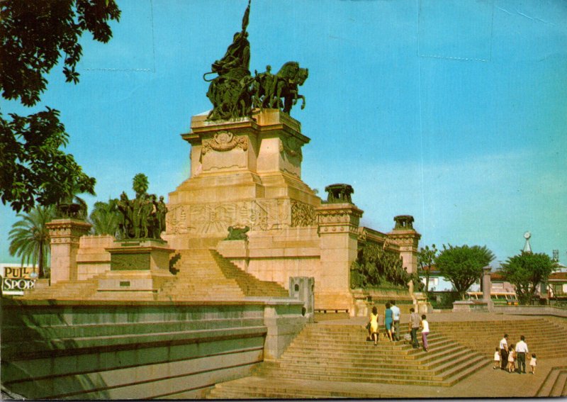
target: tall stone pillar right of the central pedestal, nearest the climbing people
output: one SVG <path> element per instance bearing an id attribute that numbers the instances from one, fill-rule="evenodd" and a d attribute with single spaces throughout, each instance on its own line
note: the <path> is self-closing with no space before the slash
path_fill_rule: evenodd
<path id="1" fill-rule="evenodd" d="M 315 308 L 349 310 L 354 314 L 350 293 L 350 266 L 357 259 L 361 209 L 352 203 L 324 203 L 315 208 L 320 235 L 320 283 Z"/>

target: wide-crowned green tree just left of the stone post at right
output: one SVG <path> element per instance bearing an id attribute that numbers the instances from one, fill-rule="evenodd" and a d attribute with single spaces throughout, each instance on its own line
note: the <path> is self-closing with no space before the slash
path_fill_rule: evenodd
<path id="1" fill-rule="evenodd" d="M 443 245 L 443 250 L 435 259 L 442 277 L 451 281 L 461 298 L 472 284 L 481 279 L 483 267 L 494 259 L 493 252 L 486 246 L 468 247 Z"/>

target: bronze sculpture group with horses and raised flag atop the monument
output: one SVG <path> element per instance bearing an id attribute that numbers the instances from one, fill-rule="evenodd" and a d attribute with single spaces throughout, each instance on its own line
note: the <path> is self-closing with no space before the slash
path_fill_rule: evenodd
<path id="1" fill-rule="evenodd" d="M 271 73 L 271 67 L 266 71 L 250 74 L 250 43 L 248 41 L 248 26 L 250 1 L 242 18 L 242 31 L 235 33 L 224 57 L 211 65 L 211 71 L 203 75 L 210 82 L 207 97 L 213 104 L 213 110 L 208 114 L 209 120 L 228 120 L 252 116 L 254 108 L 279 108 L 286 113 L 305 96 L 299 94 L 301 86 L 308 77 L 308 69 L 299 67 L 298 62 L 286 62 L 279 72 Z M 218 74 L 208 79 L 209 74 Z"/>

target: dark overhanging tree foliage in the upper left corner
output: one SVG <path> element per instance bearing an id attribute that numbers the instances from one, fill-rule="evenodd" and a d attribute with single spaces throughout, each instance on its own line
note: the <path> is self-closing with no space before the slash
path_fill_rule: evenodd
<path id="1" fill-rule="evenodd" d="M 4 99 L 34 106 L 47 87 L 45 76 L 58 63 L 67 82 L 77 83 L 82 55 L 79 38 L 90 32 L 106 43 L 108 21 L 120 18 L 113 0 L 0 1 L 0 91 Z M 14 211 L 50 205 L 78 186 L 94 191 L 74 157 L 60 148 L 69 135 L 59 112 L 47 107 L 30 116 L 0 112 L 0 196 Z"/>

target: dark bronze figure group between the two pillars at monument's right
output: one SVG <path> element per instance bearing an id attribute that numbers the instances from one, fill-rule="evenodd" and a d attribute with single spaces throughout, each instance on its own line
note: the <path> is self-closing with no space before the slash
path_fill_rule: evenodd
<path id="1" fill-rule="evenodd" d="M 352 288 L 407 286 L 411 280 L 417 281 L 417 275 L 412 277 L 403 269 L 399 255 L 373 243 L 361 245 L 357 260 L 351 265 Z"/>

